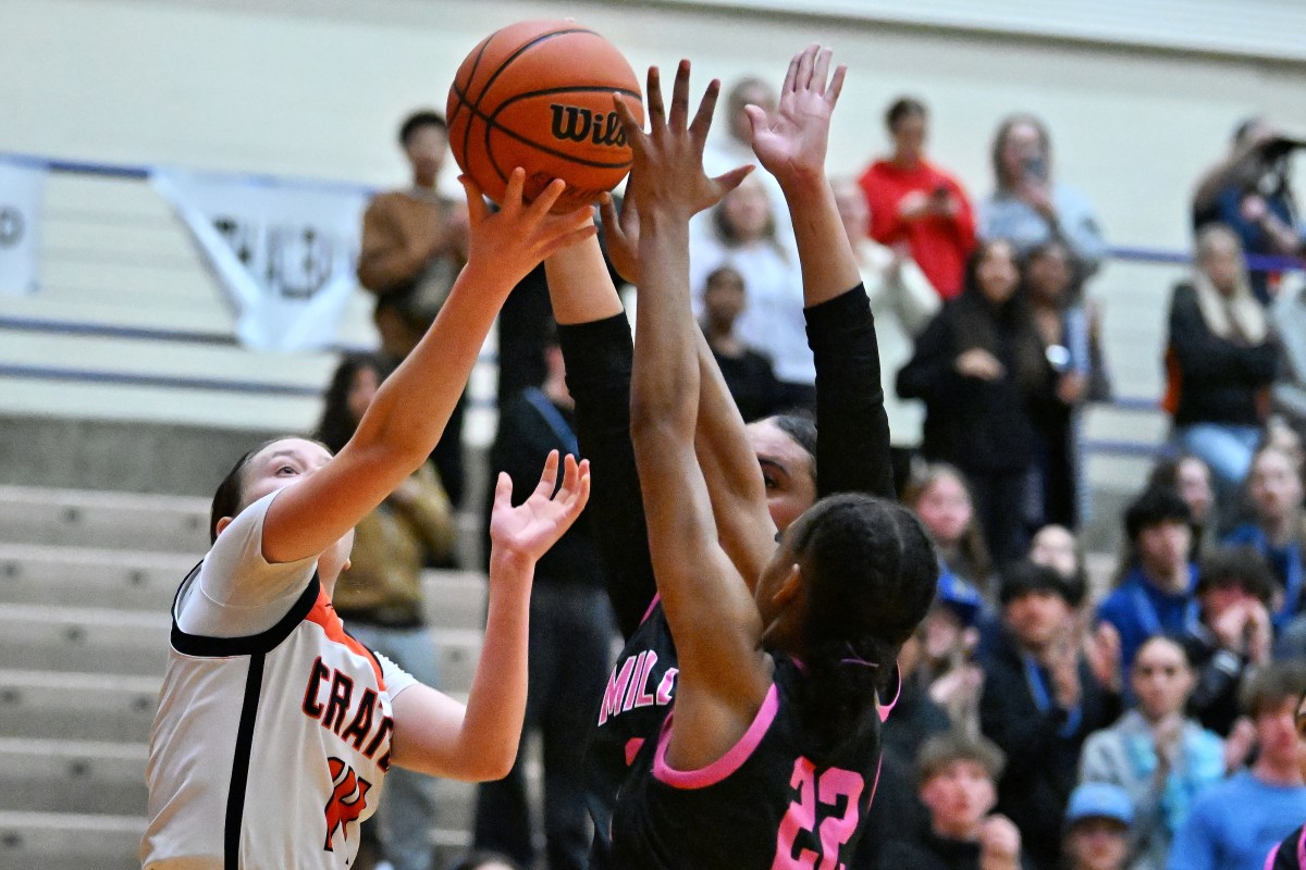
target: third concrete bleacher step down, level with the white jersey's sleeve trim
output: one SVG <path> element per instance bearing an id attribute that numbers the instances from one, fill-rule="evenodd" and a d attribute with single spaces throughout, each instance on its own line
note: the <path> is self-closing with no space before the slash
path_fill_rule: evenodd
<path id="1" fill-rule="evenodd" d="M 0 605 L 0 661 L 16 670 L 159 677 L 167 667 L 167 613 L 102 608 Z M 481 631 L 431 631 L 444 689 L 466 691 L 481 656 Z"/>

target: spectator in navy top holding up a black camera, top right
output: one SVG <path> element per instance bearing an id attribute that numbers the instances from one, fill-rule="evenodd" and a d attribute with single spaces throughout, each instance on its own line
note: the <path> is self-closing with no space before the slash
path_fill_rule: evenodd
<path id="1" fill-rule="evenodd" d="M 1212 223 L 1232 227 L 1242 248 L 1254 254 L 1306 253 L 1306 226 L 1299 223 L 1290 179 L 1290 154 L 1302 147 L 1264 117 L 1238 125 L 1229 153 L 1198 183 L 1192 228 Z M 1279 275 L 1254 271 L 1251 288 L 1268 303 Z"/>

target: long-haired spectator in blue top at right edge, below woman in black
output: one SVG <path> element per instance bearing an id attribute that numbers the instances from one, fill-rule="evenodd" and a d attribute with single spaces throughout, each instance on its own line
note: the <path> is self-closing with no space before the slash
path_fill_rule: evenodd
<path id="1" fill-rule="evenodd" d="M 1273 614 L 1275 626 L 1282 629 L 1302 609 L 1306 515 L 1301 468 L 1285 450 L 1267 445 L 1251 459 L 1247 494 L 1254 518 L 1234 528 L 1225 544 L 1252 547 L 1269 562 L 1282 592 Z"/>

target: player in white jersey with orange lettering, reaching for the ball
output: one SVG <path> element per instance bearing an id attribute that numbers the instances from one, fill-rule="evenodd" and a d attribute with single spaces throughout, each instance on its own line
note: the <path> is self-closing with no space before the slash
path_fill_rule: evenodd
<path id="1" fill-rule="evenodd" d="M 182 583 L 150 736 L 146 870 L 342 870 L 393 763 L 498 779 L 517 751 L 535 560 L 589 496 L 589 468 L 552 454 L 513 507 L 491 518 L 490 604 L 466 706 L 350 638 L 330 593 L 355 523 L 426 458 L 512 287 L 554 250 L 593 235 L 588 209 L 550 215 L 512 175 L 490 214 L 470 181 L 470 257 L 439 318 L 377 391 L 341 451 L 282 438 L 246 454 L 213 501 L 213 548 Z"/>

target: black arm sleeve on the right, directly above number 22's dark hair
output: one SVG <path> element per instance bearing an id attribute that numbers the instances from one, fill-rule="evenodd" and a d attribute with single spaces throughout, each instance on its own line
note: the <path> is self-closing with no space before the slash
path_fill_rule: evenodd
<path id="1" fill-rule="evenodd" d="M 875 317 L 862 284 L 803 310 L 816 363 L 816 493 L 893 498 Z"/>

